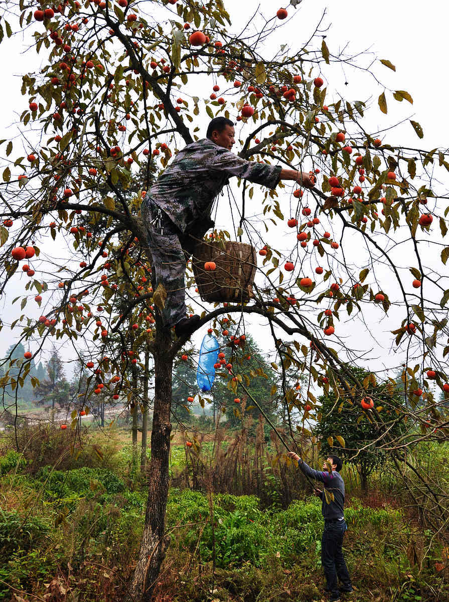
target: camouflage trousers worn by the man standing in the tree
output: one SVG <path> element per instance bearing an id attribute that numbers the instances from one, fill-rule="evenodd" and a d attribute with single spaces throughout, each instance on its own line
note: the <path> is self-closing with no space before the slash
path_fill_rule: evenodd
<path id="1" fill-rule="evenodd" d="M 165 288 L 167 299 L 162 312 L 163 323 L 173 326 L 186 317 L 185 264 L 193 252 L 197 238 L 202 238 L 205 231 L 202 232 L 204 228 L 200 227 L 192 234 L 182 234 L 172 220 L 152 203 L 149 195 L 142 202 L 141 216 L 152 255 L 153 290 L 159 284 Z"/>

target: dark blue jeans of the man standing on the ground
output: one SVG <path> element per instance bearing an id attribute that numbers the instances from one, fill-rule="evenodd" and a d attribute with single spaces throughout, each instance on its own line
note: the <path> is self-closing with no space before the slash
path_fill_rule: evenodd
<path id="1" fill-rule="evenodd" d="M 321 562 L 326 577 L 326 589 L 330 591 L 331 600 L 340 595 L 337 577 L 341 581 L 342 591 L 351 589 L 351 578 L 341 549 L 346 529 L 345 521 L 324 521 L 324 531 L 321 537 Z"/>

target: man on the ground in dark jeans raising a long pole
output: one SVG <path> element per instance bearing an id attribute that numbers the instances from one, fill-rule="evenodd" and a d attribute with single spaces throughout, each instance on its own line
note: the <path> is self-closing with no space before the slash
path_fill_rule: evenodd
<path id="1" fill-rule="evenodd" d="M 288 455 L 298 462 L 300 470 L 306 476 L 323 483 L 323 491 L 314 490 L 322 500 L 321 512 L 324 518 L 321 562 L 326 576 L 326 589 L 330 592 L 330 601 L 336 602 L 340 600 L 340 592 L 353 591 L 342 551 L 343 536 L 347 529 L 343 515 L 344 481 L 339 474 L 343 462 L 338 456 L 329 456 L 323 463 L 323 471 L 318 471 L 309 467 L 296 453 L 288 452 Z M 332 468 L 332 471 L 329 468 Z M 341 588 L 338 587 L 337 577 L 341 581 Z"/>

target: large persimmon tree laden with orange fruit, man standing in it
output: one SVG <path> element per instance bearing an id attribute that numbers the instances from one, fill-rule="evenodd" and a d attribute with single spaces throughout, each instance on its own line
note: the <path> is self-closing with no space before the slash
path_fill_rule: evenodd
<path id="1" fill-rule="evenodd" d="M 255 298 L 202 305 L 188 265 L 186 294 L 193 309 L 201 308 L 199 328 L 207 324 L 237 338 L 238 344 L 231 338 L 227 344 L 240 358 L 247 353 L 245 324 L 254 316 L 264 319 L 282 376 L 273 395 L 285 403 L 290 445 L 298 450 L 308 429 L 306 423 L 296 428 L 292 412 L 320 420 L 318 388 L 325 394 L 332 389 L 338 400 L 332 411 L 338 403 L 359 404 L 370 379 L 360 381 L 348 362 L 362 363 L 377 343 L 394 349 L 403 367 L 403 405 L 390 413 L 362 408 L 362 419 L 376 429 L 377 447 L 398 468 L 406 466 L 401 478 L 415 503 L 426 505 L 430 525 L 447 522 L 444 492 L 420 475 L 404 448 L 449 432 L 444 406 L 429 386 L 436 382 L 448 393 L 449 288 L 442 274 L 449 246 L 439 181 L 449 160 L 438 149 L 401 145 L 394 129 L 385 137 L 370 131 L 367 104 L 324 85 L 333 64 L 370 69 L 363 55 L 333 54 L 318 29 L 304 47 L 270 50 L 274 45 L 267 42 L 283 26 L 285 12 L 291 17 L 298 4 L 291 0 L 288 11 L 276 13 L 270 2 L 265 18 L 255 14 L 243 31 L 232 25 L 222 0 L 2 5 L 0 39 L 23 31 L 29 52 L 42 61 L 22 77 L 21 137 L 1 146 L 0 291 L 7 295 L 25 282 L 22 314 L 3 326 L 32 343 L 34 355 L 48 340 L 72 344 L 73 355 L 91 370 L 86 405 L 102 389 L 135 403 L 138 392 L 125 365 L 138 349 L 153 356 L 149 494 L 130 583 L 133 600 L 150 599 L 169 543 L 164 517 L 172 367 L 187 342 L 162 327 L 164 290 L 151 286 L 140 204 L 153 172 L 218 115 L 237 122 L 241 157 L 312 170 L 317 182 L 311 190 L 279 184 L 273 191 L 238 182 L 242 200 L 232 236 L 258 249 Z M 382 113 L 392 101 L 412 102 L 404 90 L 378 87 L 373 78 Z M 419 123 L 410 123 L 423 137 Z M 133 190 L 139 171 L 143 186 Z M 232 195 L 229 200 L 235 208 Z M 230 230 L 217 226 L 214 243 L 231 237 Z M 114 302 L 119 295 L 120 310 Z M 39 305 L 39 319 L 26 313 L 27 303 Z M 379 321 L 392 333 L 388 343 L 379 340 Z M 362 350 L 353 340 L 361 329 Z M 16 375 L 16 360 L 7 358 L 1 384 L 17 390 L 30 359 Z M 301 389 L 286 378 L 292 367 L 306 379 Z M 229 362 L 228 376 L 229 389 L 248 394 L 253 374 L 243 361 Z M 404 420 L 415 425 L 407 441 L 389 428 Z"/>

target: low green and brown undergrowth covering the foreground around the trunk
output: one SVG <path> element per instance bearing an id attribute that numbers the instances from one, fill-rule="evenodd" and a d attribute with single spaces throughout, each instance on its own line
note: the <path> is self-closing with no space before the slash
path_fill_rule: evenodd
<path id="1" fill-rule="evenodd" d="M 27 601 L 122 600 L 143 528 L 143 479 L 111 468 L 43 467 L 29 474 L 20 455 L 5 458 L 0 601 L 14 599 L 13 592 Z M 171 543 L 155 600 L 320 601 L 320 504 L 309 497 L 285 510 L 264 509 L 253 495 L 209 500 L 203 492 L 171 489 Z M 446 569 L 435 569 L 442 545 L 432 533 L 413 527 L 399 509 L 372 508 L 358 498 L 345 516 L 345 553 L 358 588 L 353 600 L 449 600 Z"/>

